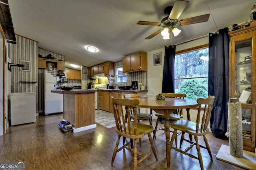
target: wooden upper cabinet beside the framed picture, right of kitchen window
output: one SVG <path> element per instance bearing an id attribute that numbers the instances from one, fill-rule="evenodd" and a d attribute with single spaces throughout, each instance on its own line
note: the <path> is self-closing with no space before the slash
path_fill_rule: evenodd
<path id="1" fill-rule="evenodd" d="M 132 71 L 148 71 L 148 55 L 146 52 L 138 52 L 123 57 L 123 73 Z"/>

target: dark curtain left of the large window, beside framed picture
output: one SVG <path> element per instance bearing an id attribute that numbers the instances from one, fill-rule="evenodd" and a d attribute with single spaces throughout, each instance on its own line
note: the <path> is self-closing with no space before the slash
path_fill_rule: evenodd
<path id="1" fill-rule="evenodd" d="M 165 47 L 162 93 L 174 93 L 175 45 Z"/>

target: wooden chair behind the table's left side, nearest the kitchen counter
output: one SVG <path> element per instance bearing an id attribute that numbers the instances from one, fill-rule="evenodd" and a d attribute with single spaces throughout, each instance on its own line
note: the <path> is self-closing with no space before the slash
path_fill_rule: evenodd
<path id="1" fill-rule="evenodd" d="M 136 97 L 140 97 L 140 96 L 141 96 L 140 93 L 132 93 L 132 94 L 125 94 L 124 98 L 130 99 L 130 98 L 136 98 Z M 138 122 L 140 122 L 141 120 L 148 119 L 149 124 L 152 125 L 152 117 L 153 117 L 152 112 L 151 112 L 151 114 L 150 113 L 140 113 L 140 108 L 139 107 L 137 108 L 137 121 Z M 130 109 L 130 119 L 134 119 L 133 109 Z M 131 142 L 131 147 L 132 147 L 133 146 L 132 140 L 130 142 Z M 140 146 L 141 146 L 141 139 L 139 140 L 139 142 L 140 142 Z"/>

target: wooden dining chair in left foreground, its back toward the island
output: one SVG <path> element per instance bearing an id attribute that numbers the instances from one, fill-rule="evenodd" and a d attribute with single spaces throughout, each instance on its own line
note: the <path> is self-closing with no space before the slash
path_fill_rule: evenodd
<path id="1" fill-rule="evenodd" d="M 116 146 L 113 152 L 111 165 L 113 165 L 113 162 L 116 157 L 116 153 L 121 151 L 122 149 L 127 149 L 132 152 L 133 157 L 133 166 L 134 170 L 137 169 L 137 165 L 145 160 L 150 154 L 154 153 L 154 156 L 156 158 L 156 161 L 158 161 L 158 157 L 156 154 L 156 149 L 154 147 L 154 143 L 151 137 L 150 132 L 154 130 L 152 125 L 146 125 L 143 123 L 140 123 L 137 121 L 137 107 L 140 103 L 139 99 L 116 99 L 114 97 L 112 98 L 112 105 L 114 110 L 114 118 L 116 121 L 116 133 L 118 134 L 118 139 L 116 141 Z M 121 106 L 121 107 L 120 107 Z M 125 106 L 125 115 L 122 106 Z M 121 110 L 120 110 L 120 109 Z M 134 110 L 134 121 L 131 121 L 130 119 L 130 109 Z M 121 115 L 121 116 L 119 116 Z M 127 116 L 127 118 L 126 118 Z M 139 152 L 137 150 L 137 139 L 142 138 L 144 135 L 148 134 L 148 139 L 151 144 L 152 150 L 150 150 L 148 153 L 143 154 L 142 152 Z M 130 139 L 134 139 L 134 149 L 129 147 L 128 145 L 130 142 L 126 142 L 122 146 L 119 146 L 120 137 L 126 137 Z M 125 152 L 124 152 L 125 153 Z"/>

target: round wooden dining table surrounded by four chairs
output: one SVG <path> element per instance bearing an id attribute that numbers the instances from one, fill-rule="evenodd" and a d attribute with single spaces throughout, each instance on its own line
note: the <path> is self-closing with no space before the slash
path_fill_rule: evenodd
<path id="1" fill-rule="evenodd" d="M 154 97 L 140 97 L 138 99 L 140 100 L 140 104 L 138 105 L 138 107 L 153 109 L 156 113 L 164 114 L 164 127 L 166 129 L 166 161 L 167 168 L 170 169 L 170 113 L 173 113 L 174 109 L 186 109 L 187 118 L 190 121 L 189 110 L 191 107 L 198 107 L 198 103 L 196 102 L 196 100 L 192 99 L 166 98 L 165 100 L 156 100 Z"/>

